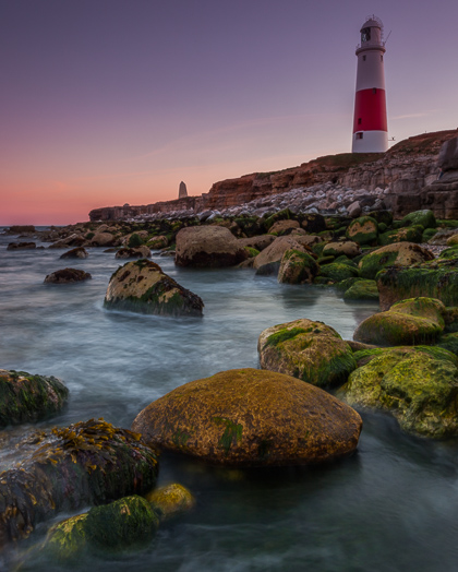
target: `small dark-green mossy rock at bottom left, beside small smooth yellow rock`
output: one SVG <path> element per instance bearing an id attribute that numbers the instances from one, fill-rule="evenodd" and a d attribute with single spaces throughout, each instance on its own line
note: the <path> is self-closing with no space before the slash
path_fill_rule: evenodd
<path id="1" fill-rule="evenodd" d="M 152 505 L 136 494 L 94 507 L 84 521 L 91 545 L 109 552 L 144 546 L 158 527 L 159 519 Z"/>

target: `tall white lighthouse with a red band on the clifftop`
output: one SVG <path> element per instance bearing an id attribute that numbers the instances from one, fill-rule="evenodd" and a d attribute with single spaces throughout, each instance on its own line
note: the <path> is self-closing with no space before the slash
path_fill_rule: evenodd
<path id="1" fill-rule="evenodd" d="M 357 46 L 358 71 L 354 97 L 352 153 L 384 153 L 388 148 L 383 23 L 369 16 Z"/>

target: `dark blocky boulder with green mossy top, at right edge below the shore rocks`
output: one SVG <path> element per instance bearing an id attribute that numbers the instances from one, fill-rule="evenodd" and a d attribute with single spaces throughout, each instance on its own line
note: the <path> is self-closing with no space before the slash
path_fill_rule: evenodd
<path id="1" fill-rule="evenodd" d="M 389 266 L 377 274 L 377 288 L 382 310 L 418 296 L 458 306 L 458 258 L 435 259 L 411 267 Z"/>

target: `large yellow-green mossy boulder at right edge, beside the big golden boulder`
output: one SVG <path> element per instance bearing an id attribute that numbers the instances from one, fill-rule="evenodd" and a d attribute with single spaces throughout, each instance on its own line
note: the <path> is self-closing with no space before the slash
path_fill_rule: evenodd
<path id="1" fill-rule="evenodd" d="M 339 396 L 354 407 L 390 412 L 407 432 L 458 434 L 458 368 L 429 351 L 391 349 L 353 371 Z"/>

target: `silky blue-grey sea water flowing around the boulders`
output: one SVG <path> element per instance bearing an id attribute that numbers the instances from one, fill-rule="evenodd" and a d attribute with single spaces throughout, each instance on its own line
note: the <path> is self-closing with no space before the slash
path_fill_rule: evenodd
<path id="1" fill-rule="evenodd" d="M 327 289 L 279 285 L 252 271 L 183 270 L 154 257 L 202 297 L 204 318 L 108 312 L 103 300 L 119 266 L 113 253 L 92 249 L 86 260 L 60 261 L 61 250 L 7 251 L 12 240 L 0 236 L 0 368 L 59 377 L 71 392 L 68 408 L 40 427 L 104 417 L 129 428 L 141 409 L 178 385 L 258 367 L 256 344 L 265 327 L 309 318 L 351 338 L 377 309 L 346 303 Z M 64 266 L 91 272 L 93 279 L 44 284 Z M 197 499 L 194 513 L 159 531 L 143 552 L 93 557 L 81 569 L 458 570 L 457 443 L 406 436 L 386 415 L 362 416 L 358 453 L 325 466 L 233 470 L 164 456 L 159 485 L 189 487 Z M 9 446 L 0 452 L 1 469 L 14 454 Z M 34 539 L 48 525 L 38 526 Z M 38 559 L 34 570 L 62 567 Z"/>

